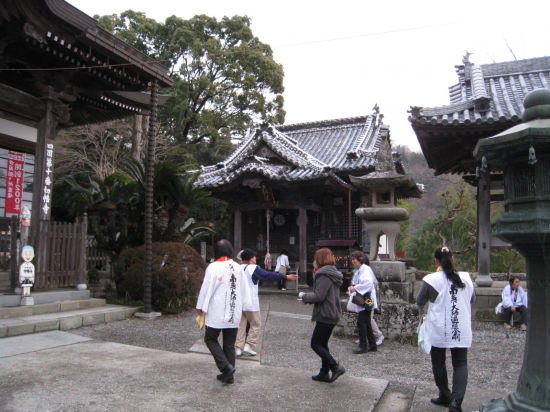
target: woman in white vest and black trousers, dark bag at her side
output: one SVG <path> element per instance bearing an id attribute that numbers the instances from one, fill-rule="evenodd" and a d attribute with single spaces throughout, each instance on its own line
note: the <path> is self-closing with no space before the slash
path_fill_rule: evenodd
<path id="1" fill-rule="evenodd" d="M 358 293 L 366 299 L 373 298 L 374 273 L 370 267 L 364 264 L 365 255 L 363 252 L 355 251 L 351 255 L 351 263 L 357 268 L 353 276 L 352 285 L 348 288 L 350 293 Z M 376 293 L 376 292 L 375 292 Z M 359 329 L 359 345 L 353 349 L 353 353 L 360 354 L 366 352 L 376 352 L 376 339 L 372 328 L 372 312 L 374 307 L 368 305 L 357 305 L 357 329 Z M 377 327 L 378 329 L 378 327 Z"/>

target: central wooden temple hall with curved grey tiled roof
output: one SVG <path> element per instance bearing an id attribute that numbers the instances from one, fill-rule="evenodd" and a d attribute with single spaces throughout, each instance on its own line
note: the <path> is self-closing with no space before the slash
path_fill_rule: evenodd
<path id="1" fill-rule="evenodd" d="M 196 184 L 230 204 L 235 253 L 252 248 L 263 262 L 269 251 L 275 262 L 286 249 L 303 276 L 311 274 L 315 250 L 326 246 L 337 266 L 349 271 L 349 251 L 369 250 L 355 209 L 372 204 L 350 176 L 374 172 L 382 142 L 390 144 L 382 117 L 376 110 L 364 117 L 264 124 L 251 128 L 223 162 L 201 167 Z M 405 174 L 399 155 L 392 157 L 395 171 Z"/>

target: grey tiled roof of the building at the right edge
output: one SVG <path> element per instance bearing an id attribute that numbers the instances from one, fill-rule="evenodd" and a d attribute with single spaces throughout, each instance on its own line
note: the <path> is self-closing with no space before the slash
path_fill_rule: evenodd
<path id="1" fill-rule="evenodd" d="M 411 107 L 410 122 L 442 126 L 517 122 L 525 95 L 550 88 L 550 57 L 476 65 L 466 56 L 456 71 L 459 82 L 449 87 L 450 104 Z"/>

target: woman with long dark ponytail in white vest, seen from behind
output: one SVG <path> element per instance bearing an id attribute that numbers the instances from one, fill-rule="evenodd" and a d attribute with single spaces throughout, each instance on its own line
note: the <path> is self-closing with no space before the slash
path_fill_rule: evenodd
<path id="1" fill-rule="evenodd" d="M 426 316 L 428 335 L 432 342 L 430 352 L 432 371 L 439 396 L 430 401 L 462 412 L 462 401 L 468 384 L 468 348 L 472 344 L 472 302 L 474 286 L 467 272 L 457 272 L 454 258 L 447 247 L 434 253 L 437 272 L 424 277 L 416 304 L 430 303 Z M 449 390 L 445 352 L 451 350 L 453 388 Z"/>

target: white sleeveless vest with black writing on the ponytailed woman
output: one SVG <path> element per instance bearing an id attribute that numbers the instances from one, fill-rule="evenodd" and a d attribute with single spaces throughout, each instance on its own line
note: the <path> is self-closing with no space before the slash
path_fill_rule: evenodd
<path id="1" fill-rule="evenodd" d="M 430 273 L 424 282 L 431 285 L 438 293 L 434 303 L 430 302 L 426 326 L 432 341 L 437 348 L 469 348 L 472 345 L 472 305 L 474 286 L 467 272 L 458 272 L 464 289 L 455 288 L 451 296 L 451 282 L 445 272 Z"/>

